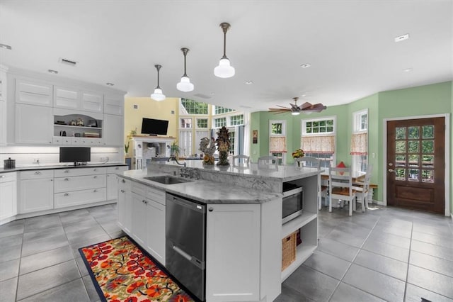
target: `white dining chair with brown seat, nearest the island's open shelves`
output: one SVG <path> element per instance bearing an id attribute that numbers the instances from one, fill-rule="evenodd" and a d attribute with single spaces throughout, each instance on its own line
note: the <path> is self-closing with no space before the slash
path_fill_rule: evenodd
<path id="1" fill-rule="evenodd" d="M 328 174 L 329 200 L 328 211 L 332 211 L 332 199 L 338 199 L 343 203 L 349 203 L 349 216 L 352 209 L 355 210 L 355 189 L 352 189 L 352 177 L 350 168 L 330 168 Z"/>

